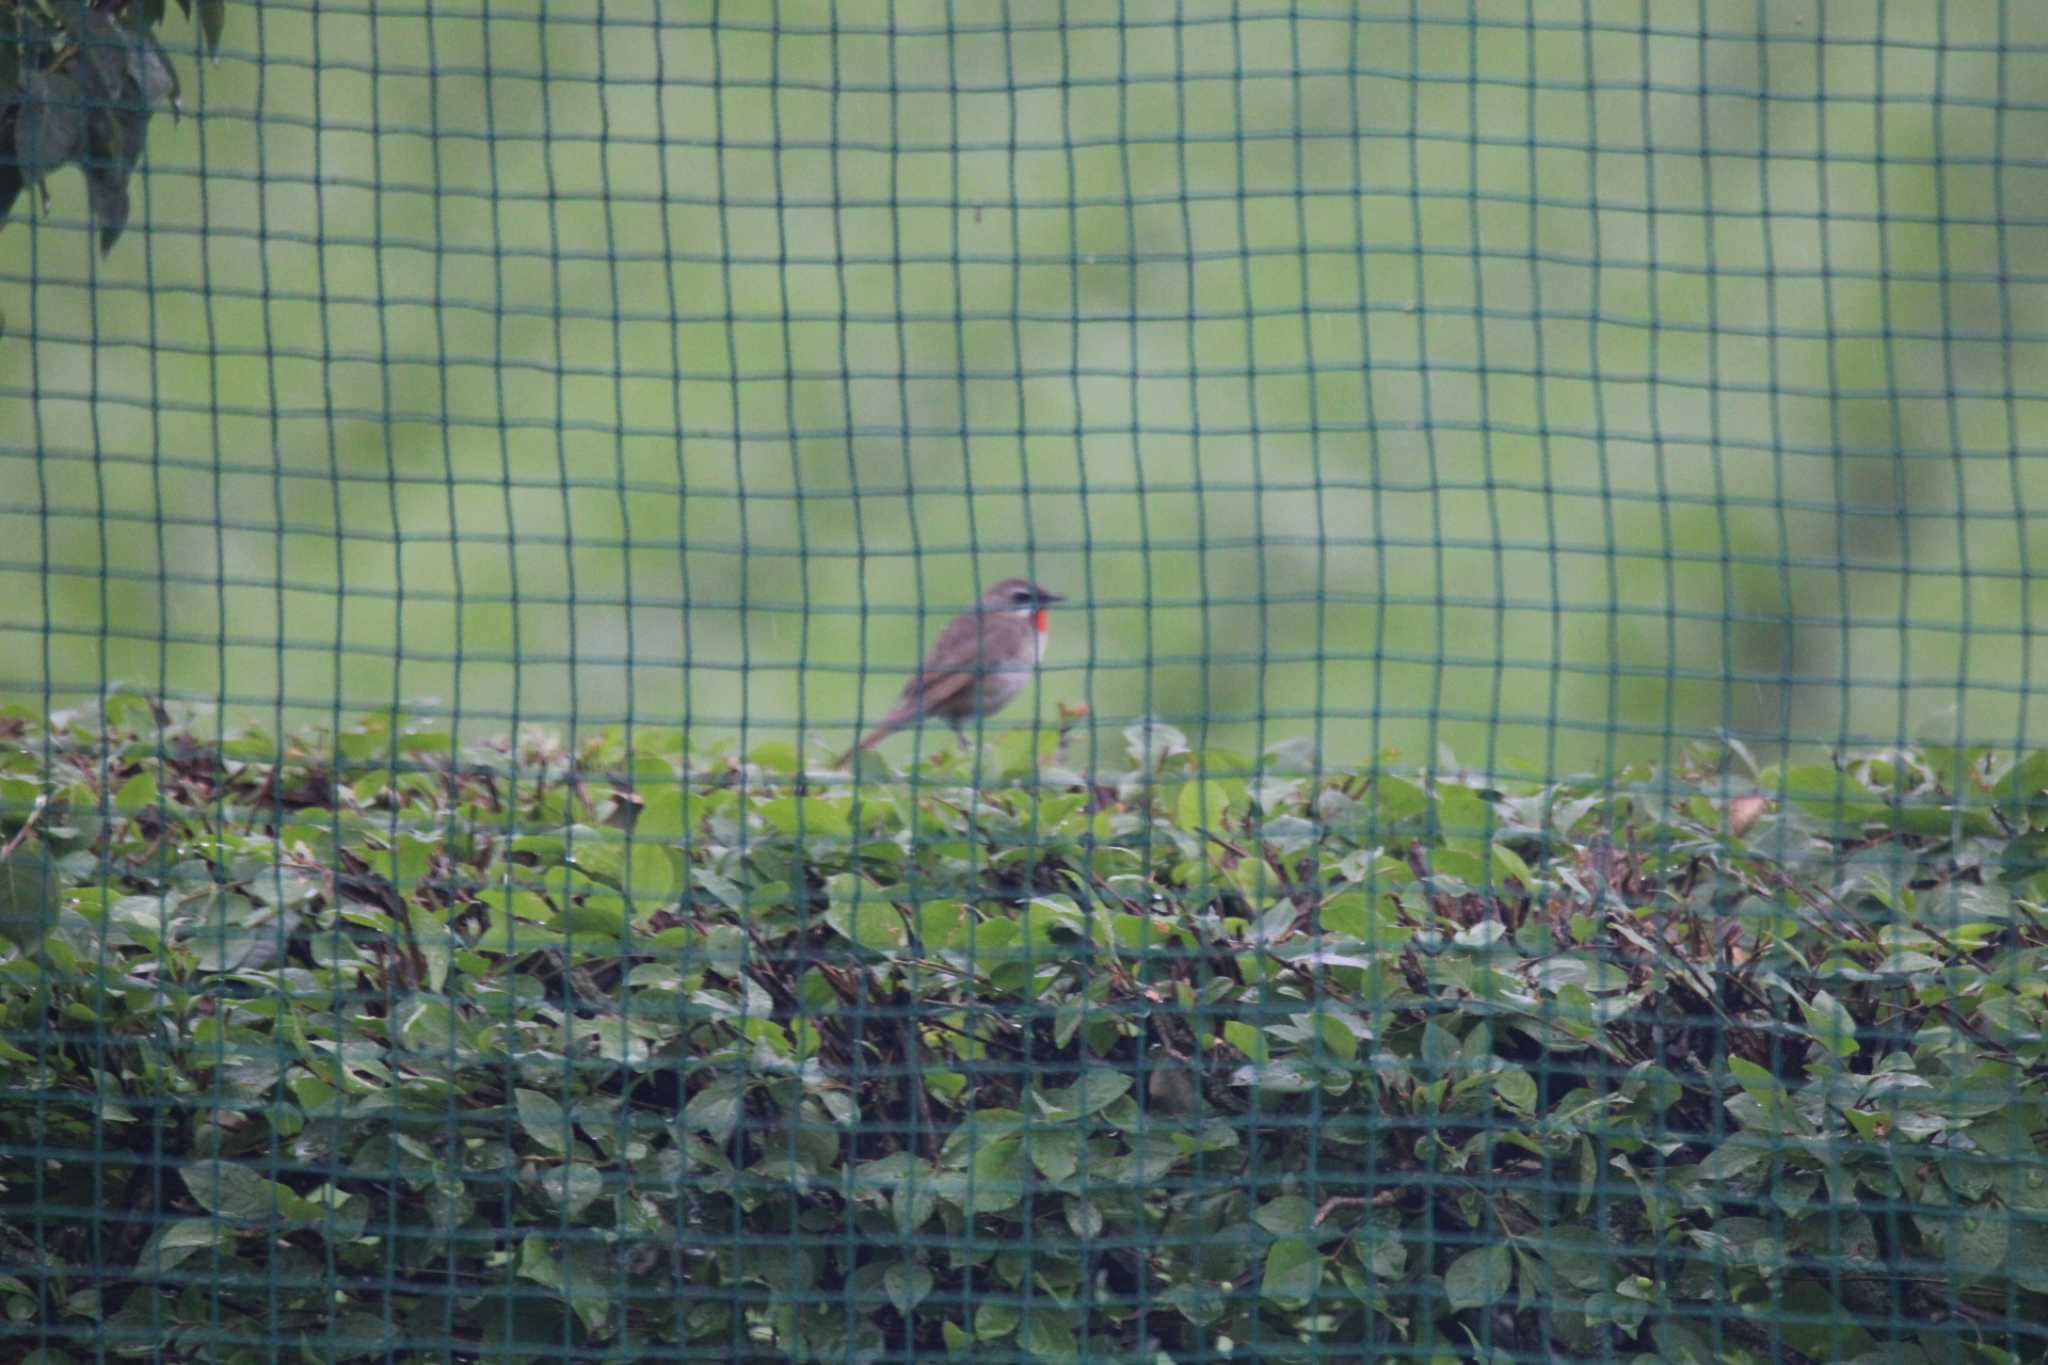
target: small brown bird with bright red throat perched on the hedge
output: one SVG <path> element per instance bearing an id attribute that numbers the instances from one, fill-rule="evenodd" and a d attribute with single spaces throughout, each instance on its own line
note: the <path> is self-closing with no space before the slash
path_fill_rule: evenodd
<path id="1" fill-rule="evenodd" d="M 967 722 L 991 716 L 1038 671 L 1044 659 L 1047 608 L 1065 602 L 1030 579 L 1004 579 L 954 616 L 903 696 L 866 737 L 840 755 L 838 767 L 903 726 L 940 718 L 967 743 Z"/>

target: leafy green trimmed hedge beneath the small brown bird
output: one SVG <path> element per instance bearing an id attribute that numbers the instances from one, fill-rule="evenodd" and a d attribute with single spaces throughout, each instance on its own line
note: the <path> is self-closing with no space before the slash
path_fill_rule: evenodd
<path id="1" fill-rule="evenodd" d="M 1126 741 L 0 714 L 14 1340 L 2042 1359 L 2048 755 Z"/>

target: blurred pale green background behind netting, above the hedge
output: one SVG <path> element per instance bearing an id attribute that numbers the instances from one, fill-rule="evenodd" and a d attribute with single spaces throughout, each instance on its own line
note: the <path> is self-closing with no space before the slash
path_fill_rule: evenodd
<path id="1" fill-rule="evenodd" d="M 14 700 L 821 755 L 1032 573 L 1047 716 L 1210 745 L 2042 743 L 2048 6 L 166 37 L 129 237 L 0 231 Z"/>

